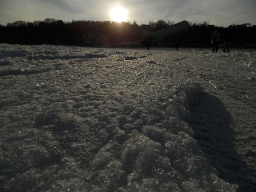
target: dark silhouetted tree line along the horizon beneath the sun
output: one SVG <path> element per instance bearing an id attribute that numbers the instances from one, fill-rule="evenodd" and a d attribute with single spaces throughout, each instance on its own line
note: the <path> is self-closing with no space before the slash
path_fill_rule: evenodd
<path id="1" fill-rule="evenodd" d="M 118 46 L 121 42 L 135 42 L 143 44 L 145 37 L 142 31 L 154 32 L 174 25 L 174 21 L 158 20 L 150 21 L 148 25 L 138 25 L 136 21 L 110 22 L 110 21 L 72 21 L 63 22 L 47 18 L 44 21 L 16 21 L 6 26 L 0 25 L 0 43 L 10 44 L 53 44 L 53 45 L 111 45 Z M 187 31 L 166 37 L 153 39 L 158 45 L 170 46 L 179 41 L 186 46 L 209 46 L 210 38 L 214 30 L 209 22 L 189 22 Z M 245 45 L 256 43 L 256 29 L 250 23 L 229 26 L 234 31 L 233 44 Z M 221 34 L 227 28 L 217 27 Z"/>

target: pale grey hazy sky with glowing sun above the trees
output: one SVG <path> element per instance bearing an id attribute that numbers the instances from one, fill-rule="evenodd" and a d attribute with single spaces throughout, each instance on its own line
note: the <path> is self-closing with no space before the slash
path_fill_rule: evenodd
<path id="1" fill-rule="evenodd" d="M 115 10 L 110 13 L 110 10 Z M 0 0 L 0 25 L 54 18 L 62 21 L 136 21 L 163 19 L 228 27 L 256 25 L 256 0 Z"/>

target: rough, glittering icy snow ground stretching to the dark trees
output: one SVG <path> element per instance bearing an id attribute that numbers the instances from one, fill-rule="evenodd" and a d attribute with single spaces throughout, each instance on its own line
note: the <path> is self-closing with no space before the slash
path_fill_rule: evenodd
<path id="1" fill-rule="evenodd" d="M 256 191 L 255 66 L 0 44 L 0 191 Z"/>

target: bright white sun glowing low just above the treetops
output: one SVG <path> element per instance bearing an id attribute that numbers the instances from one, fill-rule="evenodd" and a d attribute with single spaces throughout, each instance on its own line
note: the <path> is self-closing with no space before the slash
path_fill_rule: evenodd
<path id="1" fill-rule="evenodd" d="M 127 21 L 129 10 L 124 9 L 120 5 L 115 5 L 109 12 L 110 18 L 115 22 Z"/>

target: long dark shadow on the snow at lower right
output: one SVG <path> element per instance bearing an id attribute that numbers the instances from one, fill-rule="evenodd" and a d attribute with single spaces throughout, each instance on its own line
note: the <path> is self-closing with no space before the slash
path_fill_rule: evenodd
<path id="1" fill-rule="evenodd" d="M 230 125 L 233 119 L 221 101 L 202 93 L 189 103 L 194 138 L 204 150 L 210 164 L 220 172 L 219 177 L 239 186 L 238 191 L 256 191 L 252 170 L 236 153 L 235 132 Z"/>

